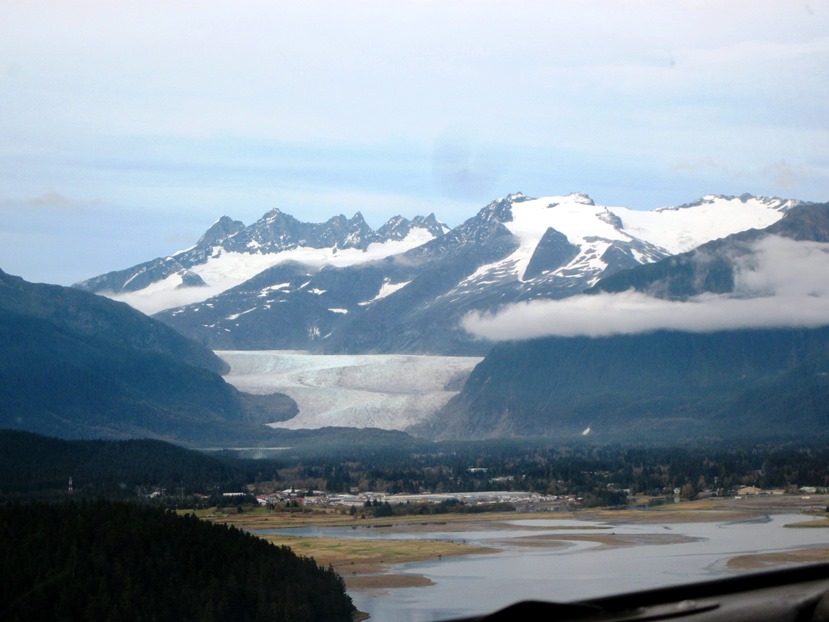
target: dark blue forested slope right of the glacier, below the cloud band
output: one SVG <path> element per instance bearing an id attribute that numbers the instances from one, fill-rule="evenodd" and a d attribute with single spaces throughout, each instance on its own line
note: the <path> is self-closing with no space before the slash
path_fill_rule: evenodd
<path id="1" fill-rule="evenodd" d="M 829 329 L 655 332 L 497 346 L 437 438 L 804 437 L 829 432 Z"/>

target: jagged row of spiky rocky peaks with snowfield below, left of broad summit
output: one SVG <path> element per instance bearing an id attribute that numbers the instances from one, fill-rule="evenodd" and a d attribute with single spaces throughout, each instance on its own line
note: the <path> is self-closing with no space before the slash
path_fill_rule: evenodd
<path id="1" fill-rule="evenodd" d="M 405 252 L 444 233 L 434 215 L 392 220 L 395 231 L 375 232 L 360 212 L 305 223 L 274 208 L 248 227 L 223 216 L 186 251 L 78 286 L 155 313 L 201 302 L 286 261 L 309 270 L 351 266 Z"/>

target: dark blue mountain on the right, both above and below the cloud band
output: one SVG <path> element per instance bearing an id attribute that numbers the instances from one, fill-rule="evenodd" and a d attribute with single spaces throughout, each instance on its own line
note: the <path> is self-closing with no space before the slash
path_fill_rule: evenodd
<path id="1" fill-rule="evenodd" d="M 602 279 L 588 293 L 693 299 L 698 313 L 705 303 L 759 300 L 774 314 L 763 316 L 765 307 L 757 305 L 758 315 L 776 325 L 498 344 L 461 393 L 413 432 L 438 439 L 592 434 L 628 441 L 826 434 L 829 315 L 820 301 L 829 289 L 823 282 L 829 255 L 820 245 L 827 241 L 829 204 L 802 205 L 764 230 L 727 236 Z M 763 266 L 759 256 L 775 247 L 786 253 Z M 795 256 L 793 247 L 802 247 L 810 258 L 805 268 L 783 261 Z M 816 274 L 802 274 L 809 268 Z M 763 277 L 764 269 L 776 278 Z M 782 295 L 769 291 L 780 282 Z M 750 291 L 750 285 L 760 287 Z M 798 285 L 801 296 L 792 296 Z M 818 313 L 802 316 L 798 307 L 815 301 Z M 748 327 L 756 318 L 736 319 Z"/>

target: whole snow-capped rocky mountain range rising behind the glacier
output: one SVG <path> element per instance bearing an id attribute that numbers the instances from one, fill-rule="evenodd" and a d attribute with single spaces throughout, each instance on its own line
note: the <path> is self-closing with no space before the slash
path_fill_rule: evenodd
<path id="1" fill-rule="evenodd" d="M 213 349 L 484 354 L 461 319 L 561 299 L 723 236 L 767 227 L 797 201 L 706 196 L 645 212 L 583 194 L 491 202 L 454 229 L 360 214 L 301 223 L 224 217 L 191 249 L 75 285 L 125 300 Z"/>

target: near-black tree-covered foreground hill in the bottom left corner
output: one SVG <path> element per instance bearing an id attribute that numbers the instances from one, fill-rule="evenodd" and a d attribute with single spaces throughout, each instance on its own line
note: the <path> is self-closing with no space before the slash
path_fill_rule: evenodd
<path id="1" fill-rule="evenodd" d="M 0 619 L 347 621 L 342 579 L 287 547 L 109 501 L 0 506 Z"/>

